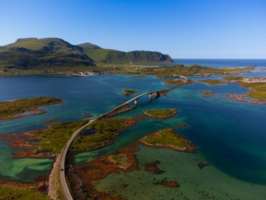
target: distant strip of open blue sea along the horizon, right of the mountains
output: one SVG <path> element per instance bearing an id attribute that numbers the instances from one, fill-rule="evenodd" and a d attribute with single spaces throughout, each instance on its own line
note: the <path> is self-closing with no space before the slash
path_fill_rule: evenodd
<path id="1" fill-rule="evenodd" d="M 184 59 L 174 58 L 184 65 L 202 65 L 207 67 L 256 67 L 265 68 L 266 59 Z"/>

